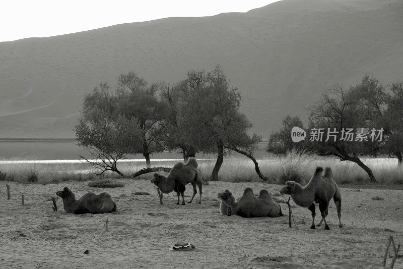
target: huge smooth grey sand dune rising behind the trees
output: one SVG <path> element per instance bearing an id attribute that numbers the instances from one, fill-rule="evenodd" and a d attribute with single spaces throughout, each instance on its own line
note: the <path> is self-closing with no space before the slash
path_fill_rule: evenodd
<path id="1" fill-rule="evenodd" d="M 121 72 L 175 82 L 189 69 L 221 64 L 240 89 L 253 131 L 267 138 L 287 114 L 306 120 L 305 107 L 337 83 L 348 87 L 365 73 L 385 84 L 403 79 L 402 5 L 284 0 L 247 13 L 0 42 L 2 101 L 33 89 L 16 110 L 25 113 L 2 110 L 9 116 L 0 118 L 0 137 L 74 137 L 78 116 L 63 118 L 78 113 L 99 83 L 114 85 Z"/>

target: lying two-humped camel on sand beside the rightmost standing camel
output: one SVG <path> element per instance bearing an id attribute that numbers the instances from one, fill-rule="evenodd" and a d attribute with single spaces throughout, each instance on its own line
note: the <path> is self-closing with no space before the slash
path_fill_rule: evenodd
<path id="1" fill-rule="evenodd" d="M 266 190 L 260 190 L 256 198 L 253 190 L 246 188 L 237 202 L 229 190 L 219 193 L 217 197 L 221 199 L 220 212 L 222 215 L 226 215 L 228 206 L 232 206 L 233 212 L 244 218 L 283 216 L 279 203 L 274 201 Z"/>

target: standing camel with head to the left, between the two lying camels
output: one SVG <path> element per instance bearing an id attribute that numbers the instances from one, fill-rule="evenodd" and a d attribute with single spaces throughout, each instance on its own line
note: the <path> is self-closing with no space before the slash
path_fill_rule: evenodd
<path id="1" fill-rule="evenodd" d="M 164 175 L 154 173 L 154 178 L 151 180 L 151 183 L 155 184 L 162 193 L 170 193 L 174 190 L 178 195 L 178 202 L 176 204 L 179 204 L 180 194 L 182 196 L 182 205 L 185 204 L 185 185 L 191 183 L 193 186 L 193 196 L 188 203 L 193 201 L 193 198 L 197 193 L 197 185 L 200 195 L 198 203 L 201 203 L 201 186 L 203 184 L 203 177 L 201 176 L 200 170 L 197 169 L 197 162 L 195 158 L 189 158 L 186 164 L 183 164 L 182 162 L 176 163 L 166 177 Z M 161 203 L 162 193 L 160 196 Z"/>

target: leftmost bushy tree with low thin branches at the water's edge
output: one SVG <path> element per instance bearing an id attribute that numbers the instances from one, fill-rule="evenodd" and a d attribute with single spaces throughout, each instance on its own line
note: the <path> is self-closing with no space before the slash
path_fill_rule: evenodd
<path id="1" fill-rule="evenodd" d="M 101 170 L 94 174 L 101 176 L 105 171 L 113 171 L 123 176 L 116 163 L 139 147 L 141 132 L 137 122 L 114 113 L 115 100 L 105 85 L 85 96 L 82 116 L 75 127 L 76 137 L 79 145 L 96 158 L 90 160 L 81 156 Z"/>

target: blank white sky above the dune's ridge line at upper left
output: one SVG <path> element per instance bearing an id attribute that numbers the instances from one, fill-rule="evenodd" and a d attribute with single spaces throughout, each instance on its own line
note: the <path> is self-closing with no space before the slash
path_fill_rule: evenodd
<path id="1" fill-rule="evenodd" d="M 6 0 L 2 1 L 0 41 L 81 32 L 167 17 L 246 12 L 278 0 Z"/>

